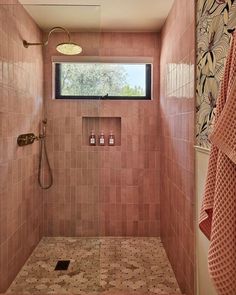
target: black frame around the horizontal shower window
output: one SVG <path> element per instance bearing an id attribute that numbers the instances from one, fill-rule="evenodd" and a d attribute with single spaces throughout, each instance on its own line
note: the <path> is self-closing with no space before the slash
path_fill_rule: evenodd
<path id="1" fill-rule="evenodd" d="M 76 63 L 76 62 L 75 62 Z M 55 63 L 55 99 L 89 99 L 89 100 L 151 100 L 152 99 L 152 64 L 143 63 L 146 65 L 146 95 L 144 96 L 81 96 L 81 95 L 61 95 L 61 64 Z M 114 63 L 116 64 L 116 63 Z M 118 64 L 118 63 L 117 63 Z M 128 63 L 127 63 L 128 64 Z M 132 63 L 129 63 L 132 64 Z"/>

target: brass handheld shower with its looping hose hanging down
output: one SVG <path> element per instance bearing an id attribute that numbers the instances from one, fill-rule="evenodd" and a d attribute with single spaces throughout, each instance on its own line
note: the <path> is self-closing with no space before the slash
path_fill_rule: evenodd
<path id="1" fill-rule="evenodd" d="M 39 142 L 40 142 L 39 145 L 40 145 L 40 148 L 39 148 L 38 183 L 39 183 L 39 186 L 42 189 L 49 189 L 53 185 L 53 176 L 52 176 L 52 169 L 51 169 L 51 166 L 50 166 L 50 163 L 49 163 L 48 153 L 47 153 L 47 147 L 46 147 L 46 142 L 45 142 L 47 121 L 44 120 L 43 121 L 43 124 L 44 124 L 44 126 L 43 126 L 43 133 L 40 134 L 40 136 L 39 136 Z M 49 172 L 49 184 L 47 184 L 47 185 L 44 185 L 43 184 L 43 181 L 41 179 L 41 178 L 43 178 L 43 173 L 42 173 L 43 153 L 45 155 L 45 162 L 46 162 L 46 165 L 48 166 L 48 172 Z"/>

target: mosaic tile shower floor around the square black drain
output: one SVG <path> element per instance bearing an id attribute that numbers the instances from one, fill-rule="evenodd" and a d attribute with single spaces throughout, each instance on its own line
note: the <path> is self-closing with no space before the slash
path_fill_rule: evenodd
<path id="1" fill-rule="evenodd" d="M 43 238 L 7 293 L 101 292 L 181 294 L 159 238 L 110 237 Z"/>

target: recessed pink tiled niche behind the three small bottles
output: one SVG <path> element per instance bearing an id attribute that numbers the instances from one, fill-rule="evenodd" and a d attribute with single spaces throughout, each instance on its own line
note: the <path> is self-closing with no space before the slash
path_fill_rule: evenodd
<path id="1" fill-rule="evenodd" d="M 96 138 L 101 134 L 105 135 L 105 146 L 110 132 L 115 136 L 115 146 L 121 145 L 121 117 L 83 117 L 82 118 L 82 142 L 89 145 L 89 136 L 94 131 Z"/>

